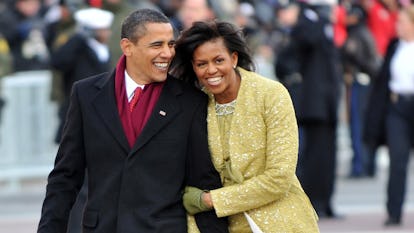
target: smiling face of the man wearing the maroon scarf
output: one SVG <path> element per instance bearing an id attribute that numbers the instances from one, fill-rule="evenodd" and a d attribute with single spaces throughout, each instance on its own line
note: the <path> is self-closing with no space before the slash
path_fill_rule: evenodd
<path id="1" fill-rule="evenodd" d="M 127 57 L 127 73 L 138 84 L 162 82 L 175 55 L 175 40 L 171 24 L 148 23 L 146 31 L 134 44 L 122 39 Z"/>

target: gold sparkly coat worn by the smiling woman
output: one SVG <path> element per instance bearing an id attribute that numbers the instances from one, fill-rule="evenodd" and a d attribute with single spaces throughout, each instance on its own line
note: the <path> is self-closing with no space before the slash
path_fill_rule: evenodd
<path id="1" fill-rule="evenodd" d="M 211 191 L 216 214 L 229 216 L 231 233 L 251 232 L 243 212 L 264 233 L 319 232 L 316 213 L 295 175 L 298 129 L 289 94 L 279 82 L 238 70 L 241 84 L 226 146 L 209 95 L 209 146 L 224 186 Z M 228 160 L 241 181 L 225 178 Z"/>

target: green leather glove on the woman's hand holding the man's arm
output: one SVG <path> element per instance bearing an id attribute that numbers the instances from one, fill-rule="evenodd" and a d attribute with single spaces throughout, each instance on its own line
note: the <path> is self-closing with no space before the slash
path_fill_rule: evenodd
<path id="1" fill-rule="evenodd" d="M 201 195 L 203 194 L 203 192 L 203 190 L 196 187 L 185 187 L 183 195 L 183 204 L 184 208 L 190 215 L 194 215 L 211 209 L 208 206 L 206 206 L 201 200 Z"/>

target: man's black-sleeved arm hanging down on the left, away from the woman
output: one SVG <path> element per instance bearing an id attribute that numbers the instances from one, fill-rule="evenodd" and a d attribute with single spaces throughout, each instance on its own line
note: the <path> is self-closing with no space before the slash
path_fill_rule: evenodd
<path id="1" fill-rule="evenodd" d="M 48 177 L 38 233 L 66 232 L 69 212 L 85 174 L 82 119 L 76 88 L 63 131 L 55 166 Z"/>

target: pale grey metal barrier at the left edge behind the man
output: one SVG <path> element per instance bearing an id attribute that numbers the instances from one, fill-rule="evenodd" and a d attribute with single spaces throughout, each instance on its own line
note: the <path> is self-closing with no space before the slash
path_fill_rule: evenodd
<path id="1" fill-rule="evenodd" d="M 24 179 L 46 177 L 56 152 L 57 106 L 50 101 L 51 72 L 19 72 L 1 79 L 6 105 L 0 122 L 1 191 Z"/>

